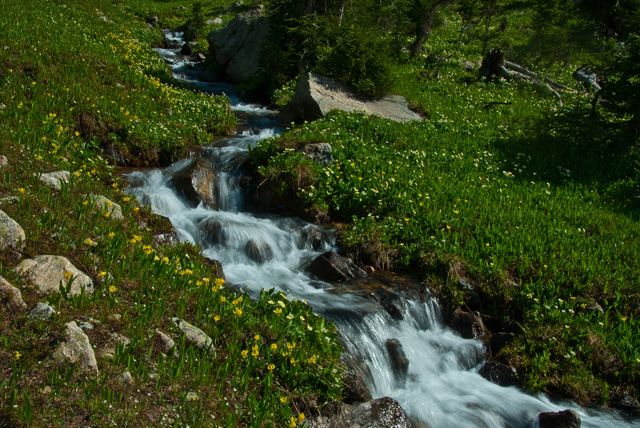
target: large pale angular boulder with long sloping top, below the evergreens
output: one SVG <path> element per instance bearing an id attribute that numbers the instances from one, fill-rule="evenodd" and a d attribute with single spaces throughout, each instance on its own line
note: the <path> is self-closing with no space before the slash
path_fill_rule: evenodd
<path id="1" fill-rule="evenodd" d="M 281 118 L 284 124 L 302 123 L 320 119 L 331 110 L 360 111 L 396 122 L 422 120 L 409 109 L 409 102 L 399 95 L 366 100 L 347 85 L 312 73 L 300 77 L 291 102 L 281 111 Z"/>

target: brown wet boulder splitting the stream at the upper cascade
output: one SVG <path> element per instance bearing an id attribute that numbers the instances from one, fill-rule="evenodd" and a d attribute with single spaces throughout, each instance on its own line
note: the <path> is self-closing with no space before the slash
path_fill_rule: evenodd
<path id="1" fill-rule="evenodd" d="M 216 209 L 214 184 L 216 173 L 206 158 L 196 158 L 186 168 L 175 173 L 170 180 L 172 186 L 180 190 L 194 205 L 200 202 Z"/>

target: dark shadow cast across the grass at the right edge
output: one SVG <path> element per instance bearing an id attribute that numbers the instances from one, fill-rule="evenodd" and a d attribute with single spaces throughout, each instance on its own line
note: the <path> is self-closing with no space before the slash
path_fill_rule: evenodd
<path id="1" fill-rule="evenodd" d="M 588 108 L 573 108 L 543 117 L 523 135 L 494 146 L 516 179 L 583 186 L 602 195 L 616 212 L 640 219 L 637 132 Z"/>

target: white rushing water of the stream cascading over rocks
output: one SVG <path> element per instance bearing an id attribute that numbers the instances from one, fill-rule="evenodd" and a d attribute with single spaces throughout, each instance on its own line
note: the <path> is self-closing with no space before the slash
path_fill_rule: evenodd
<path id="1" fill-rule="evenodd" d="M 167 36 L 180 38 L 179 34 Z M 337 290 L 310 277 L 305 267 L 319 254 L 336 249 L 332 231 L 296 218 L 251 214 L 243 198 L 242 163 L 247 149 L 281 132 L 277 114 L 242 103 L 231 85 L 198 82 L 197 72 L 177 52 L 179 49 L 159 50 L 173 64 L 176 77 L 209 93 L 226 93 L 250 130 L 217 141 L 200 154 L 217 172 L 217 210 L 194 207 L 171 185 L 174 174 L 195 159 L 164 170 L 131 173 L 130 182 L 136 185 L 128 192 L 169 217 L 182 240 L 199 244 L 206 256 L 219 260 L 227 282 L 253 296 L 261 288 L 277 288 L 307 300 L 316 312 L 336 322 L 349 358 L 366 368 L 363 377 L 373 397 L 398 400 L 411 418 L 427 427 L 535 427 L 540 412 L 567 408 L 580 414 L 584 427 L 637 426 L 637 421 L 612 412 L 554 403 L 544 395 L 533 396 L 485 380 L 478 374 L 484 364 L 482 343 L 463 339 L 447 328 L 433 299 L 397 292 L 397 309 L 391 316 L 370 291 L 349 286 Z M 389 339 L 399 341 L 409 360 L 405 378 L 399 378 L 392 368 L 386 347 Z"/>

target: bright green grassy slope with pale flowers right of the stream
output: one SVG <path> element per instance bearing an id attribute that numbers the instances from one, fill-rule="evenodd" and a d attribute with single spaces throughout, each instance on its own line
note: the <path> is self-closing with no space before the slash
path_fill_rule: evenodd
<path id="1" fill-rule="evenodd" d="M 510 15 L 522 24 L 504 38 L 518 43 L 525 18 Z M 517 333 L 499 357 L 526 387 L 582 403 L 638 397 L 640 224 L 628 152 L 593 145 L 584 129 L 546 132 L 554 120 L 571 126 L 550 93 L 464 72 L 479 44 L 458 49 L 459 22 L 448 19 L 427 44 L 448 61 L 396 71 L 396 91 L 427 120 L 334 114 L 264 142 L 254 151 L 261 171 L 283 179 L 302 170 L 308 183 L 315 169 L 298 195 L 348 222 L 343 244 L 362 263 L 425 272 L 454 304 L 471 304 L 457 281 L 467 277 L 482 297 L 474 309 L 494 331 Z M 573 69 L 544 73 L 578 90 Z M 568 106 L 588 102 L 563 95 Z M 298 168 L 299 155 L 278 148 L 318 140 L 336 158 L 324 170 Z"/>

